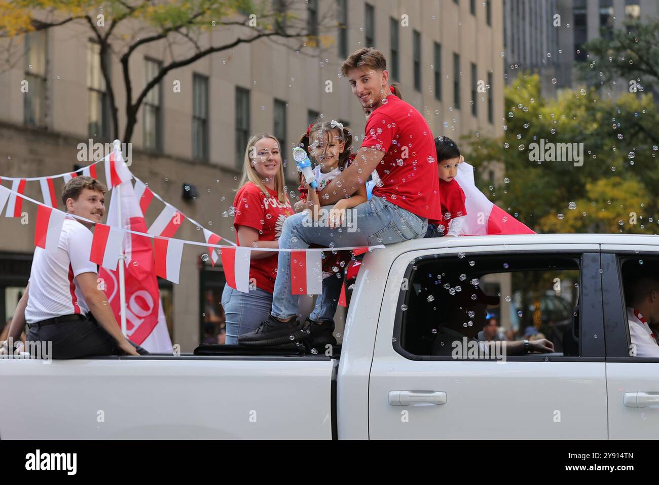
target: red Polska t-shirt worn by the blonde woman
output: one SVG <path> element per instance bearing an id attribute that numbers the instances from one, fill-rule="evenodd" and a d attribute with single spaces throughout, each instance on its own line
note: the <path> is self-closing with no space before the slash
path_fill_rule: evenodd
<path id="1" fill-rule="evenodd" d="M 267 187 L 266 187 L 267 188 Z M 238 226 L 248 226 L 256 229 L 259 241 L 275 241 L 281 236 L 281 226 L 288 216 L 293 214 L 293 207 L 286 197 L 286 203 L 277 199 L 277 191 L 268 189 L 270 197 L 266 197 L 261 189 L 252 182 L 247 182 L 238 190 L 236 198 L 233 199 L 235 216 L 233 227 L 238 232 Z M 236 234 L 236 241 L 240 241 Z M 277 255 L 262 259 L 252 259 L 250 263 L 249 277 L 256 280 L 256 288 L 272 293 L 275 289 L 275 278 L 277 276 Z"/>

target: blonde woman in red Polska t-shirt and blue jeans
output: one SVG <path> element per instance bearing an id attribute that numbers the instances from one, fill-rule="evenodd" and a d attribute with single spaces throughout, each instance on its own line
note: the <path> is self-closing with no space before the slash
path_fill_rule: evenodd
<path id="1" fill-rule="evenodd" d="M 284 191 L 281 146 L 270 133 L 249 139 L 245 149 L 243 176 L 233 199 L 233 227 L 237 243 L 246 247 L 279 247 L 284 220 L 293 207 Z M 222 292 L 227 321 L 227 344 L 237 344 L 241 333 L 252 332 L 268 319 L 277 276 L 277 252 L 250 251 L 250 290 L 243 293 L 228 284 Z M 255 283 L 255 284 L 252 284 Z"/>

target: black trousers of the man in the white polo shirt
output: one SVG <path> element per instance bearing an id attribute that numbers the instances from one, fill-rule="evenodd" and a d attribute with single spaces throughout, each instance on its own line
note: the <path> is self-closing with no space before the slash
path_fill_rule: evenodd
<path id="1" fill-rule="evenodd" d="M 84 320 L 32 325 L 26 341 L 53 342 L 53 359 L 76 359 L 81 357 L 122 355 L 117 340 L 101 327 L 91 314 Z M 129 340 L 130 342 L 130 340 Z M 130 342 L 138 354 L 149 355 L 138 344 Z"/>

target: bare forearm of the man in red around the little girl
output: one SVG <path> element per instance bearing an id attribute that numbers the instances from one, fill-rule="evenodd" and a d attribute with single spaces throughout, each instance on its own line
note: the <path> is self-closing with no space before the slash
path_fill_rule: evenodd
<path id="1" fill-rule="evenodd" d="M 366 146 L 359 148 L 355 161 L 318 193 L 322 204 L 335 204 L 341 199 L 353 195 L 360 185 L 366 185 L 366 180 L 382 158 L 384 158 L 384 152 L 380 150 Z M 326 196 L 328 197 L 326 198 Z"/>

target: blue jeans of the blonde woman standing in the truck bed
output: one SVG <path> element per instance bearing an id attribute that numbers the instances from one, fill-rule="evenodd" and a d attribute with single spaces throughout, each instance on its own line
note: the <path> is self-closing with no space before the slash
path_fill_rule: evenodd
<path id="1" fill-rule="evenodd" d="M 268 319 L 272 294 L 258 288 L 243 293 L 226 284 L 222 292 L 222 306 L 227 317 L 225 344 L 237 345 L 241 333 L 253 332 L 259 323 Z"/>

